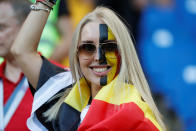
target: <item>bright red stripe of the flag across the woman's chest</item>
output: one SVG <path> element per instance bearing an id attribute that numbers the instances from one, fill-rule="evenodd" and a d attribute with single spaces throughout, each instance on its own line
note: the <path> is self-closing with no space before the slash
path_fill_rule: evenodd
<path id="1" fill-rule="evenodd" d="M 78 131 L 158 131 L 133 102 L 113 105 L 93 100 Z"/>

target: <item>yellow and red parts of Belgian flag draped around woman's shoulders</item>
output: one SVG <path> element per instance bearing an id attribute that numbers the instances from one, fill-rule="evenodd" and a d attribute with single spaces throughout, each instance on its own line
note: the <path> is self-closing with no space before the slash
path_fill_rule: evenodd
<path id="1" fill-rule="evenodd" d="M 80 112 L 88 105 L 90 89 L 86 80 L 80 80 L 65 99 L 72 112 Z M 115 93 L 117 78 L 101 88 L 78 127 L 78 131 L 162 131 L 149 106 L 141 99 L 133 85 L 123 84 Z M 67 110 L 64 110 L 67 112 Z M 66 117 L 66 116 L 61 116 Z M 66 119 L 78 117 L 71 115 Z M 78 120 L 78 118 L 76 118 Z M 78 121 L 79 122 L 79 121 Z M 72 123 L 73 124 L 73 123 Z"/>

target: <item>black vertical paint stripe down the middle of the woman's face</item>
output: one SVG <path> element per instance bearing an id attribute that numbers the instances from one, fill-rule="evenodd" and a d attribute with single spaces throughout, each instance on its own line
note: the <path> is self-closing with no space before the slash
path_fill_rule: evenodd
<path id="1" fill-rule="evenodd" d="M 108 40 L 108 26 L 106 24 L 99 25 L 99 32 L 100 32 L 99 43 L 103 43 L 105 42 L 105 40 Z M 99 62 L 101 65 L 107 64 L 105 52 L 102 50 L 100 44 L 99 44 Z M 100 85 L 101 86 L 107 85 L 107 76 L 101 77 Z"/>

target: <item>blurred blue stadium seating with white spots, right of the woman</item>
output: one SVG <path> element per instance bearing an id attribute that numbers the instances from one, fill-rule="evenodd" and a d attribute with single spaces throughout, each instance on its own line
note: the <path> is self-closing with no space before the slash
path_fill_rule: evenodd
<path id="1" fill-rule="evenodd" d="M 196 130 L 195 22 L 195 0 L 153 1 L 141 17 L 140 59 L 170 130 Z"/>

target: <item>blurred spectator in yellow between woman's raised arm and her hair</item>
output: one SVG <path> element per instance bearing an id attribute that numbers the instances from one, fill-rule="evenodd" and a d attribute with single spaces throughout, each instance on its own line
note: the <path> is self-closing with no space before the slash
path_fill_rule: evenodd
<path id="1" fill-rule="evenodd" d="M 69 16 L 60 17 L 58 19 L 58 28 L 61 34 L 64 36 L 61 42 L 57 45 L 56 49 L 51 56 L 52 60 L 63 63 L 63 65 L 68 66 L 68 56 L 69 56 L 69 45 L 72 42 L 73 30 L 79 21 L 93 9 L 92 0 L 61 0 L 61 4 L 64 3 L 66 6 Z M 61 7 L 61 6 L 60 6 Z"/>

